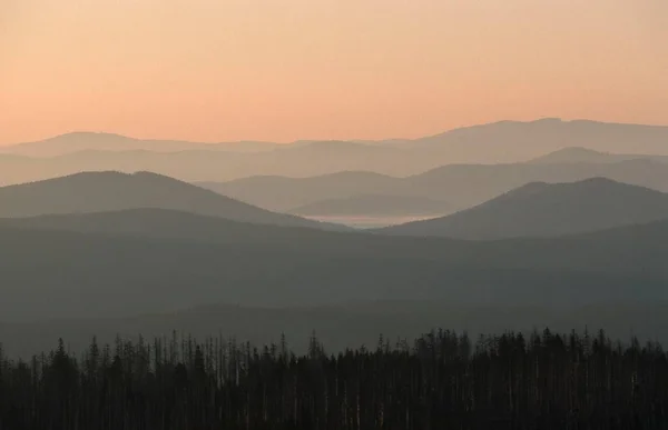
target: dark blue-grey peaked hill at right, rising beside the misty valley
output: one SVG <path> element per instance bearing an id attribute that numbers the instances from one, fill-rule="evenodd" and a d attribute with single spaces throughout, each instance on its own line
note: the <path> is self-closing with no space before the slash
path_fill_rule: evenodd
<path id="1" fill-rule="evenodd" d="M 472 240 L 558 237 L 668 219 L 668 194 L 593 178 L 532 182 L 446 217 L 392 226 L 389 234 Z"/>

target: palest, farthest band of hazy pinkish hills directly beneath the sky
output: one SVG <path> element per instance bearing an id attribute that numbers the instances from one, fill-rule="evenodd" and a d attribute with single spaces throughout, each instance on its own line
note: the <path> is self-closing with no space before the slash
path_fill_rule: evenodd
<path id="1" fill-rule="evenodd" d="M 522 162 L 566 147 L 666 156 L 666 141 L 668 127 L 559 119 L 501 121 L 423 139 L 376 142 L 206 144 L 70 133 L 1 148 L 0 183 L 90 170 L 148 170 L 187 181 L 228 181 L 257 174 L 301 178 L 347 170 L 405 177 L 452 163 Z M 23 158 L 7 158 L 17 154 Z"/>

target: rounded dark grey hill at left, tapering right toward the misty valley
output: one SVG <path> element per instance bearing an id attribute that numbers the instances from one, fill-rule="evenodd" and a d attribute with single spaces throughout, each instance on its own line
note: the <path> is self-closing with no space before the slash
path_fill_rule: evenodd
<path id="1" fill-rule="evenodd" d="M 84 172 L 0 188 L 0 217 L 4 218 L 138 208 L 181 210 L 261 224 L 344 229 L 341 226 L 274 213 L 149 172 Z"/>

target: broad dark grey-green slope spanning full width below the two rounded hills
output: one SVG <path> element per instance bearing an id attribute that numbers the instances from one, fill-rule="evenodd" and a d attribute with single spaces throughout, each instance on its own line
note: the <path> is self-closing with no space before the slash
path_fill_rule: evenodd
<path id="1" fill-rule="evenodd" d="M 146 219 L 141 211 L 87 217 L 97 221 L 0 222 L 6 321 L 124 317 L 212 302 L 445 299 L 571 307 L 668 297 L 666 222 L 562 239 L 468 242 L 271 226 L 235 236 L 237 223 L 187 213 L 169 222 L 153 214 L 146 230 L 131 220 Z"/>

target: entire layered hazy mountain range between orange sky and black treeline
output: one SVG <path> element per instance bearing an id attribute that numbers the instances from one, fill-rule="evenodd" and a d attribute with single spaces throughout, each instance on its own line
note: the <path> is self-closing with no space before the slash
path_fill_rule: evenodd
<path id="1" fill-rule="evenodd" d="M 668 339 L 667 130 L 546 119 L 414 140 L 3 148 L 0 182 L 20 183 L 0 188 L 0 339 L 18 353 L 171 330 L 305 348 L 315 329 L 337 350 L 435 326 Z M 407 214 L 438 218 L 302 218 Z"/>

